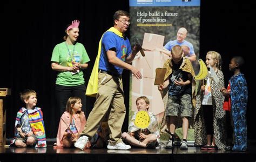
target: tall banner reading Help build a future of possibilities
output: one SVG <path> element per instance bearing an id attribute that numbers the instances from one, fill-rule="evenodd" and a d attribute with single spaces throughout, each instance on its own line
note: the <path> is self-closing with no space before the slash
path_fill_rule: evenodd
<path id="1" fill-rule="evenodd" d="M 134 112 L 138 111 L 136 99 L 146 96 L 150 100 L 149 111 L 157 116 L 161 139 L 167 140 L 169 136 L 163 131 L 166 129 L 165 102 L 163 102 L 157 85 L 154 85 L 154 79 L 156 78 L 156 68 L 163 67 L 170 53 L 160 52 L 159 49 L 163 49 L 170 40 L 175 43 L 178 30 L 185 28 L 187 30 L 185 40 L 188 43 L 181 46 L 183 46 L 184 52 L 187 52 L 185 55 L 196 54 L 197 60 L 192 64 L 194 71 L 196 74 L 198 73 L 200 0 L 130 0 L 130 15 L 131 45 L 135 45 L 134 38 L 138 38 L 144 49 L 144 56 L 138 52 L 132 63 L 142 72 L 143 78 L 138 80 L 131 76 L 129 119 Z M 193 118 L 190 119 L 188 140 L 193 141 L 192 120 Z M 177 125 L 178 128 L 182 126 L 181 119 L 178 119 Z"/>

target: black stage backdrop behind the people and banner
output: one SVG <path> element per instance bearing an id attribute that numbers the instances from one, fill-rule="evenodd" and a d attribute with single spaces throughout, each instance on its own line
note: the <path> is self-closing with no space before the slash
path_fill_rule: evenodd
<path id="1" fill-rule="evenodd" d="M 193 0 L 192 0 L 193 1 Z M 248 138 L 256 139 L 253 98 L 253 59 L 250 55 L 254 44 L 250 40 L 255 26 L 251 25 L 251 2 L 201 1 L 200 58 L 205 60 L 207 51 L 218 51 L 223 57 L 225 83 L 231 73 L 228 63 L 232 56 L 243 56 L 246 61 L 245 77 L 248 83 L 247 106 Z M 3 1 L 1 4 L 1 79 L 0 87 L 12 89 L 6 98 L 7 138 L 14 136 L 14 122 L 18 109 L 23 106 L 19 92 L 33 89 L 37 92 L 38 107 L 42 107 L 46 137 L 55 138 L 59 119 L 56 118 L 55 80 L 57 72 L 51 70 L 54 46 L 63 41 L 66 24 L 80 20 L 78 42 L 83 43 L 91 62 L 84 70 L 86 85 L 90 77 L 102 33 L 113 25 L 115 11 L 129 11 L 129 1 Z M 189 31 L 188 31 L 189 32 Z M 129 32 L 127 32 L 129 35 Z M 189 33 L 188 33 L 189 34 Z M 253 46 L 254 45 L 254 46 Z M 125 71 L 125 104 L 129 108 L 129 71 Z M 86 116 L 94 99 L 87 97 Z M 128 113 L 126 113 L 128 114 Z M 123 131 L 127 130 L 126 117 Z"/>

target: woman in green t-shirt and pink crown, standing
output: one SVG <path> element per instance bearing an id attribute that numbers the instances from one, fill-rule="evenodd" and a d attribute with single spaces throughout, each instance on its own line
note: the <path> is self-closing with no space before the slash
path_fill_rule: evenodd
<path id="1" fill-rule="evenodd" d="M 59 113 L 58 118 L 65 111 L 69 97 L 82 99 L 82 111 L 85 112 L 85 80 L 83 69 L 90 61 L 84 45 L 77 42 L 79 36 L 79 21 L 72 21 L 65 30 L 64 42 L 55 46 L 51 57 L 52 70 L 58 71 L 56 79 L 56 102 Z"/>

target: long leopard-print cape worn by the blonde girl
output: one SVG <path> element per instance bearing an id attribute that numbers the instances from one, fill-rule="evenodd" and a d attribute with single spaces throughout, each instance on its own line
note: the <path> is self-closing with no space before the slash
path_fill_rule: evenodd
<path id="1" fill-rule="evenodd" d="M 208 73 L 205 80 L 210 78 L 211 92 L 212 92 L 212 106 L 213 106 L 213 132 L 215 143 L 219 150 L 224 150 L 226 146 L 226 129 L 225 129 L 225 111 L 223 110 L 224 95 L 220 92 L 221 87 L 224 87 L 223 72 L 218 70 L 216 72 L 219 83 L 216 83 L 211 74 Z M 205 81 L 206 82 L 206 81 Z M 203 80 L 200 80 L 196 93 L 196 107 L 194 110 L 194 137 L 195 145 L 207 144 L 207 134 L 204 121 L 203 107 L 201 102 L 203 100 L 203 93 L 201 92 L 201 85 Z"/>

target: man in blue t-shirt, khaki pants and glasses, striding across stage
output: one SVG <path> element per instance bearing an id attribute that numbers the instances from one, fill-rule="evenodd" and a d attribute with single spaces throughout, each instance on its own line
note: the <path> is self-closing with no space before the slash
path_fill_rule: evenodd
<path id="1" fill-rule="evenodd" d="M 75 147 L 81 150 L 97 132 L 100 122 L 107 115 L 109 115 L 107 124 L 110 133 L 107 149 L 131 149 L 131 146 L 124 144 L 121 139 L 125 118 L 122 73 L 123 69 L 127 69 L 137 79 L 142 78 L 139 70 L 130 64 L 140 49 L 136 45 L 131 50 L 129 39 L 124 36 L 130 25 L 130 14 L 119 10 L 114 14 L 113 21 L 114 26 L 103 34 L 99 43 L 98 92 L 84 130 L 75 143 Z"/>

